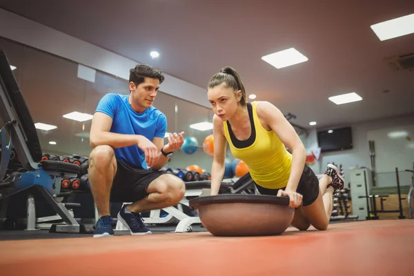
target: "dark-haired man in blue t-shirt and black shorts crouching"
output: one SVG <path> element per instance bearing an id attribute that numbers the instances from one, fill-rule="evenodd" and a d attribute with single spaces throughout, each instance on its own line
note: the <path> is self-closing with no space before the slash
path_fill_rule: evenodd
<path id="1" fill-rule="evenodd" d="M 132 202 L 118 213 L 132 235 L 150 234 L 140 212 L 174 206 L 184 197 L 184 182 L 159 170 L 184 143 L 173 133 L 164 145 L 166 116 L 152 103 L 164 76 L 139 64 L 130 70 L 129 95 L 107 94 L 90 127 L 89 182 L 98 210 L 94 237 L 112 236 L 110 201 Z"/>

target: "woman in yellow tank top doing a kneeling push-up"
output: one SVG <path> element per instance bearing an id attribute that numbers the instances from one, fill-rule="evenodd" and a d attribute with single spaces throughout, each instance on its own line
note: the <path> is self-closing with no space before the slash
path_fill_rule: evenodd
<path id="1" fill-rule="evenodd" d="M 246 102 L 242 79 L 233 68 L 223 68 L 210 78 L 208 100 L 215 112 L 210 194 L 219 193 L 228 143 L 233 156 L 249 169 L 238 181 L 253 179 L 262 195 L 289 197 L 290 207 L 296 208 L 291 224 L 299 230 L 311 224 L 326 230 L 333 192 L 344 187 L 337 168 L 328 164 L 318 181 L 305 164 L 306 150 L 293 126 L 272 103 Z"/>

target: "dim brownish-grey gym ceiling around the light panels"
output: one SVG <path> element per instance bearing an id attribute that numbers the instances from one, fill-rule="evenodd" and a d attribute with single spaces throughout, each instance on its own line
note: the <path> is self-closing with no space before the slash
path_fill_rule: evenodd
<path id="1" fill-rule="evenodd" d="M 248 93 L 306 128 L 414 113 L 414 72 L 393 72 L 383 61 L 414 52 L 414 34 L 380 41 L 370 28 L 413 13 L 414 1 L 2 0 L 0 7 L 202 88 L 233 66 Z M 277 70 L 261 59 L 290 47 L 309 61 Z M 344 92 L 364 100 L 327 99 Z"/>

